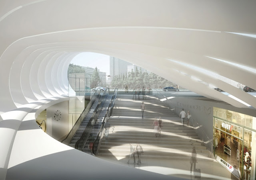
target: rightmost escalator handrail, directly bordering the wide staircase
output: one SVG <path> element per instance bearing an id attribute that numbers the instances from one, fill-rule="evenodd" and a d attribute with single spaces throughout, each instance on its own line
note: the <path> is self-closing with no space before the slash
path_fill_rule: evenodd
<path id="1" fill-rule="evenodd" d="M 115 94 L 115 92 L 116 92 L 116 94 Z M 101 144 L 101 140 L 102 140 L 102 138 L 103 138 L 103 136 L 104 136 L 105 124 L 108 122 L 108 118 L 109 118 L 109 117 L 111 116 L 111 114 L 112 114 L 112 109 L 113 109 L 114 104 L 115 104 L 116 95 L 118 94 L 118 89 L 117 89 L 117 88 L 115 88 L 113 94 L 115 94 L 115 95 L 112 96 L 111 102 L 110 102 L 110 104 L 109 104 L 109 106 L 108 106 L 107 113 L 106 113 L 106 115 L 105 115 L 105 117 L 104 117 L 104 119 L 103 119 L 103 122 L 102 122 L 102 125 L 101 125 L 101 128 L 100 128 L 100 131 L 99 131 L 99 133 L 98 133 L 98 135 L 97 135 L 97 137 L 96 137 L 96 139 L 95 139 L 95 141 L 94 141 L 94 143 L 93 143 L 93 146 L 92 146 L 92 151 L 93 151 L 93 154 L 94 154 L 94 155 L 97 155 L 97 154 L 98 154 L 98 151 L 100 150 L 99 147 L 100 147 L 100 144 Z M 98 145 L 97 145 L 97 147 L 95 147 L 97 141 L 98 141 Z M 96 148 L 96 150 L 95 150 L 95 148 Z"/>

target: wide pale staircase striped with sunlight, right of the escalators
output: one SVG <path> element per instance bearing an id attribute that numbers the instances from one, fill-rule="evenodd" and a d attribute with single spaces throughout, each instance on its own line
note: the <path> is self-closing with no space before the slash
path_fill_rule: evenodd
<path id="1" fill-rule="evenodd" d="M 144 101 L 144 119 L 140 105 Z M 155 137 L 154 117 L 162 117 L 161 136 Z M 211 153 L 204 147 L 192 127 L 182 127 L 180 118 L 154 96 L 145 100 L 132 100 L 132 95 L 118 95 L 108 123 L 109 135 L 100 146 L 98 157 L 127 158 L 130 145 L 139 142 L 143 158 L 189 160 L 192 147 L 196 147 L 198 161 L 212 161 Z"/>

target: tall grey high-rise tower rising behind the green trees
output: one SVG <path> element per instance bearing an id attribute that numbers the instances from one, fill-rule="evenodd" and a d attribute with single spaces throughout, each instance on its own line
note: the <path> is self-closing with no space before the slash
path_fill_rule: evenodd
<path id="1" fill-rule="evenodd" d="M 128 65 L 132 63 L 110 56 L 110 79 L 112 80 L 117 75 L 127 74 Z"/>

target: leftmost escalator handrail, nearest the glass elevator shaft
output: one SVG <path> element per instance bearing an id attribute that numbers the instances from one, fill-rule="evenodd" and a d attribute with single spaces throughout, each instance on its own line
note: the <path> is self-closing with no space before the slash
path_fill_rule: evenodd
<path id="1" fill-rule="evenodd" d="M 94 92 L 94 95 L 96 94 L 97 91 Z M 80 125 L 77 127 L 77 129 L 75 130 L 75 133 L 72 135 L 72 138 L 70 139 L 70 141 L 73 139 L 74 135 L 76 134 L 76 132 L 78 131 L 79 127 L 81 126 L 82 122 L 84 121 L 86 115 L 88 114 L 88 112 L 90 111 L 90 108 L 92 107 L 92 104 L 94 103 L 96 97 L 92 96 L 93 98 L 90 100 L 90 102 L 88 103 L 88 105 L 86 106 L 86 108 L 83 110 L 83 112 L 80 114 L 80 116 L 78 117 L 78 119 L 76 120 L 76 123 L 73 125 L 72 129 L 69 131 L 68 135 L 66 136 L 65 139 L 63 139 L 61 141 L 61 143 L 63 143 L 66 139 L 68 139 L 68 137 L 71 135 L 71 133 L 74 132 L 74 129 L 77 125 L 77 123 L 79 122 L 78 120 L 81 119 L 82 114 L 84 114 L 84 118 L 81 119 L 80 121 Z M 70 142 L 68 142 L 67 144 L 69 144 Z"/>

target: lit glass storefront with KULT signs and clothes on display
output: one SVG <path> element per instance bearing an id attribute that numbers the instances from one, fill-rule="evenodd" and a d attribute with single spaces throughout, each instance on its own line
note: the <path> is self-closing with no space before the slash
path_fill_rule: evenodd
<path id="1" fill-rule="evenodd" d="M 237 179 L 255 180 L 256 117 L 213 108 L 214 156 Z"/>

